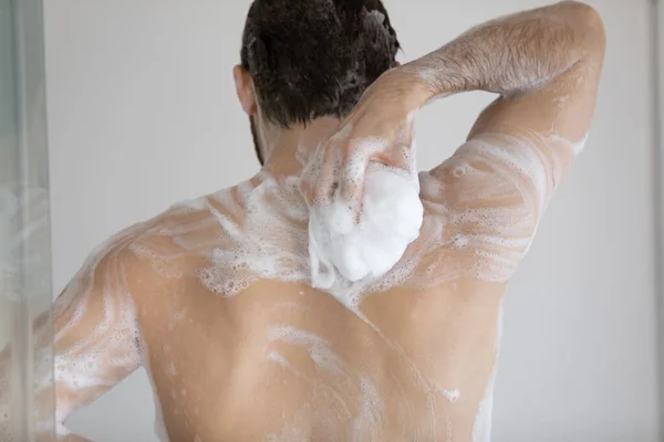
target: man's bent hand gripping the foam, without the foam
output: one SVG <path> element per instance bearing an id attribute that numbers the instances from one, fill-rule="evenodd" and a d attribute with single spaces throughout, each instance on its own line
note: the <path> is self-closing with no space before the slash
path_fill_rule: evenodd
<path id="1" fill-rule="evenodd" d="M 400 69 L 371 85 L 341 123 L 319 146 L 302 175 L 302 191 L 310 207 L 336 200 L 357 221 L 370 162 L 394 168 L 416 179 L 413 119 L 419 106 Z"/>

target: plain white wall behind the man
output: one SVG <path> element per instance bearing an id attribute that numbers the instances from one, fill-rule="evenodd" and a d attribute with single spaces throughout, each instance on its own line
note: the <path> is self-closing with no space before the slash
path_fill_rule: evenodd
<path id="1" fill-rule="evenodd" d="M 257 170 L 231 80 L 249 3 L 45 2 L 56 291 L 121 228 Z M 542 3 L 386 0 L 402 61 Z M 592 4 L 609 38 L 599 110 L 508 292 L 495 441 L 657 440 L 650 7 Z M 489 99 L 426 108 L 421 167 L 449 156 Z M 95 442 L 148 442 L 153 417 L 138 372 L 71 427 Z"/>

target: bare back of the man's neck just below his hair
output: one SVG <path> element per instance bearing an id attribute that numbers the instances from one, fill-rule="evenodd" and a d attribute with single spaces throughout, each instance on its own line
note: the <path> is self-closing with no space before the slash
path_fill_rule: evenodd
<path id="1" fill-rule="evenodd" d="M 263 170 L 273 175 L 299 175 L 311 155 L 338 128 L 340 120 L 334 117 L 317 118 L 304 125 L 293 125 L 288 129 L 261 130 L 261 143 L 267 157 Z"/>

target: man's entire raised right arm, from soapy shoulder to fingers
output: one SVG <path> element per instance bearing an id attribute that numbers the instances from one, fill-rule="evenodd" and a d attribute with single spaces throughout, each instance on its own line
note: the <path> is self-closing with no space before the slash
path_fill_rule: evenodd
<path id="1" fill-rule="evenodd" d="M 464 267 L 481 269 L 474 276 L 506 282 L 583 147 L 604 45 L 599 14 L 566 1 L 489 21 L 386 72 L 305 171 L 309 203 L 341 199 L 360 219 L 370 161 L 415 172 L 417 109 L 461 92 L 500 94 L 467 143 L 426 177 L 434 183 L 422 198 L 445 217 L 449 238 L 438 246 L 455 241 Z"/>

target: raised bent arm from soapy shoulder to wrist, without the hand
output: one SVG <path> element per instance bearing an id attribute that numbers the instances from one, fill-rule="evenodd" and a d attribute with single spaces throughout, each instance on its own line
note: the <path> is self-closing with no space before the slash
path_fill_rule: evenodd
<path id="1" fill-rule="evenodd" d="M 604 59 L 602 20 L 561 2 L 477 27 L 406 67 L 419 99 L 500 94 L 468 140 L 432 171 L 459 252 L 475 275 L 506 282 L 527 253 L 553 191 L 583 148 Z"/>

